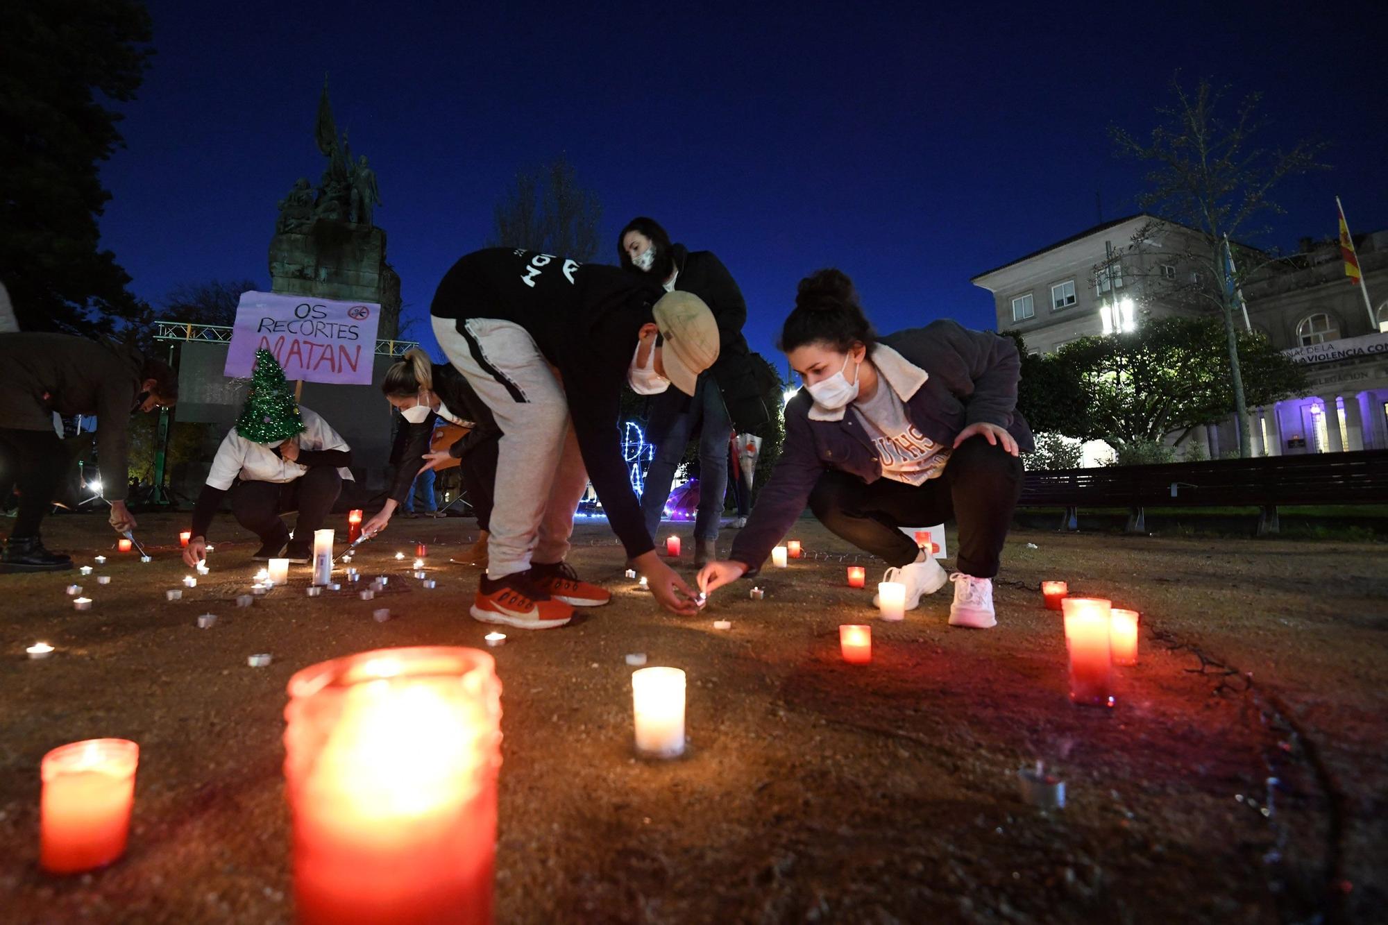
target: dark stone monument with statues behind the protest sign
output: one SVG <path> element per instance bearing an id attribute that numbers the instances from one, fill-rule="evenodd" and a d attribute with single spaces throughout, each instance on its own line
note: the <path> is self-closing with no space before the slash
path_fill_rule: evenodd
<path id="1" fill-rule="evenodd" d="M 400 331 L 400 276 L 386 262 L 386 232 L 373 224 L 380 206 L 376 172 L 362 156 L 353 164 L 347 133 L 339 138 L 328 78 L 314 131 L 328 158 L 314 189 L 301 176 L 279 200 L 269 242 L 271 290 L 294 296 L 380 304 L 380 339 Z"/>

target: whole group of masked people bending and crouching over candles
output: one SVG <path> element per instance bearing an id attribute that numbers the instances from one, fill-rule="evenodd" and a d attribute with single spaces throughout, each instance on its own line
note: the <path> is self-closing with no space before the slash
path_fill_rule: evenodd
<path id="1" fill-rule="evenodd" d="M 734 432 L 776 410 L 743 336 L 747 303 L 711 251 L 670 242 L 650 218 L 629 222 L 615 265 L 494 247 L 464 256 L 430 306 L 447 362 L 411 350 L 380 383 L 404 419 L 389 497 L 362 525 L 373 536 L 416 481 L 458 465 L 484 538 L 486 568 L 469 612 L 526 629 L 568 624 L 575 607 L 611 594 L 568 564 L 573 517 L 591 485 L 608 524 L 668 611 L 693 615 L 698 596 L 758 572 L 805 508 L 834 535 L 886 560 L 906 607 L 952 581 L 949 622 L 994 626 L 991 579 L 1022 490 L 1031 433 L 1016 411 L 1020 357 L 995 333 L 954 321 L 879 335 L 852 282 L 822 269 L 799 282 L 779 347 L 804 388 L 786 404 L 786 439 L 726 556 L 719 529 Z M 273 364 L 261 351 L 257 369 Z M 275 367 L 278 372 L 278 367 Z M 351 449 L 321 415 L 272 378 L 253 383 L 192 515 L 185 558 L 205 554 L 223 501 L 261 542 L 255 558 L 307 562 L 351 476 Z M 638 497 L 627 476 L 623 393 L 648 396 L 655 446 Z M 0 333 L 0 497 L 18 489 L 19 515 L 0 567 L 61 569 L 39 524 L 61 476 L 53 414 L 96 414 L 103 483 L 125 485 L 133 411 L 174 404 L 172 369 L 128 347 L 83 338 Z M 434 429 L 462 436 L 437 446 Z M 700 501 L 691 586 L 655 550 L 676 469 L 698 439 Z M 108 490 L 111 525 L 135 518 Z M 293 532 L 282 514 L 297 511 Z M 947 575 L 902 528 L 954 519 L 958 556 Z"/>

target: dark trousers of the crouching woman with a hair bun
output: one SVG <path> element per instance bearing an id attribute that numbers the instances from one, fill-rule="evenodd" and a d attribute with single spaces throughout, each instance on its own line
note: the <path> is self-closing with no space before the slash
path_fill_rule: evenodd
<path id="1" fill-rule="evenodd" d="M 809 496 L 819 522 L 854 546 L 887 560 L 916 561 L 919 549 L 901 526 L 959 525 L 956 568 L 974 578 L 998 574 L 998 556 L 1008 539 L 1012 511 L 1022 496 L 1022 460 L 981 436 L 965 440 L 945 471 L 924 485 L 877 479 L 830 469 Z"/>

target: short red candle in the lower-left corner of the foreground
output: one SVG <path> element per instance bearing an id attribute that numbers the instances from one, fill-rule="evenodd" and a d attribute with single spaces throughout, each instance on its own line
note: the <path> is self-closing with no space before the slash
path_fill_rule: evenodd
<path id="1" fill-rule="evenodd" d="M 103 867 L 125 853 L 140 747 L 87 739 L 43 756 L 39 864 L 50 874 Z"/>

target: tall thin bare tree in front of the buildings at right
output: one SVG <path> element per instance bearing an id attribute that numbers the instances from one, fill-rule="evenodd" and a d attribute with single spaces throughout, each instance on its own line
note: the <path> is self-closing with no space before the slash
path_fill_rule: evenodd
<path id="1" fill-rule="evenodd" d="M 1146 143 L 1116 125 L 1109 128 L 1109 136 L 1120 154 L 1149 165 L 1149 186 L 1138 196 L 1138 206 L 1194 229 L 1198 238 L 1198 247 L 1187 249 L 1187 257 L 1208 272 L 1196 271 L 1192 293 L 1217 304 L 1224 317 L 1239 454 L 1246 457 L 1252 456 L 1252 442 L 1238 362 L 1237 293 L 1241 279 L 1276 257 L 1263 253 L 1238 265 L 1235 251 L 1238 272 L 1228 274 L 1223 260 L 1224 239 L 1237 235 L 1253 240 L 1266 235 L 1269 229 L 1260 222 L 1285 211 L 1270 199 L 1273 188 L 1288 176 L 1326 169 L 1327 165 L 1319 162 L 1326 144 L 1299 140 L 1287 150 L 1259 147 L 1253 139 L 1266 128 L 1258 112 L 1260 93 L 1246 96 L 1233 121 L 1227 121 L 1220 114 L 1220 103 L 1228 88 L 1214 88 L 1201 79 L 1195 92 L 1188 93 L 1177 75 L 1171 79 L 1171 92 L 1176 101 L 1158 107 L 1162 124 L 1152 129 Z M 1245 258 L 1258 254 L 1244 251 Z"/>

